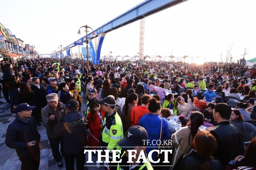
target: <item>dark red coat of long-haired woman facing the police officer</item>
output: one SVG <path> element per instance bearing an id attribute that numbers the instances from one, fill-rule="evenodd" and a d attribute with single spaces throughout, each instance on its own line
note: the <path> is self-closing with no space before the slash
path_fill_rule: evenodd
<path id="1" fill-rule="evenodd" d="M 101 131 L 100 125 L 104 121 L 104 117 L 105 117 L 104 108 L 101 108 L 100 114 L 101 114 L 101 118 L 100 118 L 100 116 L 98 116 L 98 114 L 96 112 L 94 112 L 94 121 L 92 121 L 91 112 L 89 112 L 87 114 L 87 117 L 89 120 L 88 121 L 88 129 L 90 131 L 90 133 L 88 134 L 88 146 L 95 147 L 95 148 L 90 148 L 90 149 L 96 149 L 99 147 L 98 140 L 100 140 L 100 131 Z M 102 122 L 101 122 L 101 120 L 102 120 Z"/>

